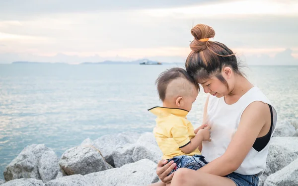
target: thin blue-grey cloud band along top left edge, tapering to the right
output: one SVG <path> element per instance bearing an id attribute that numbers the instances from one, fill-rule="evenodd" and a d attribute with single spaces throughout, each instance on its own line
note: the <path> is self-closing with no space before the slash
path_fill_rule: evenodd
<path id="1" fill-rule="evenodd" d="M 0 1 L 2 14 L 28 15 L 65 12 L 123 11 L 140 8 L 176 7 L 219 0 L 5 0 Z"/>

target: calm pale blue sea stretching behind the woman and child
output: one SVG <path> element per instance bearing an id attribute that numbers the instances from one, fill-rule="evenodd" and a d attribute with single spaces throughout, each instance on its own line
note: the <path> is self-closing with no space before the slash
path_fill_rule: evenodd
<path id="1" fill-rule="evenodd" d="M 45 143 L 58 156 L 85 138 L 152 131 L 154 81 L 171 65 L 0 64 L 0 178 L 21 150 Z M 298 120 L 298 66 L 250 66 L 248 79 L 283 119 Z M 206 94 L 188 119 L 198 126 Z"/>

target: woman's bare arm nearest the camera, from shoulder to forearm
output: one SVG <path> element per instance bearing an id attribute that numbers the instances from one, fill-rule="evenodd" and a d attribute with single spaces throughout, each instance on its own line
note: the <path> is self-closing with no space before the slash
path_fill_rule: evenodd
<path id="1" fill-rule="evenodd" d="M 268 122 L 266 117 L 268 105 L 263 102 L 251 103 L 243 112 L 237 131 L 225 153 L 202 167 L 198 171 L 218 176 L 228 175 L 243 162 L 263 126 Z"/>

